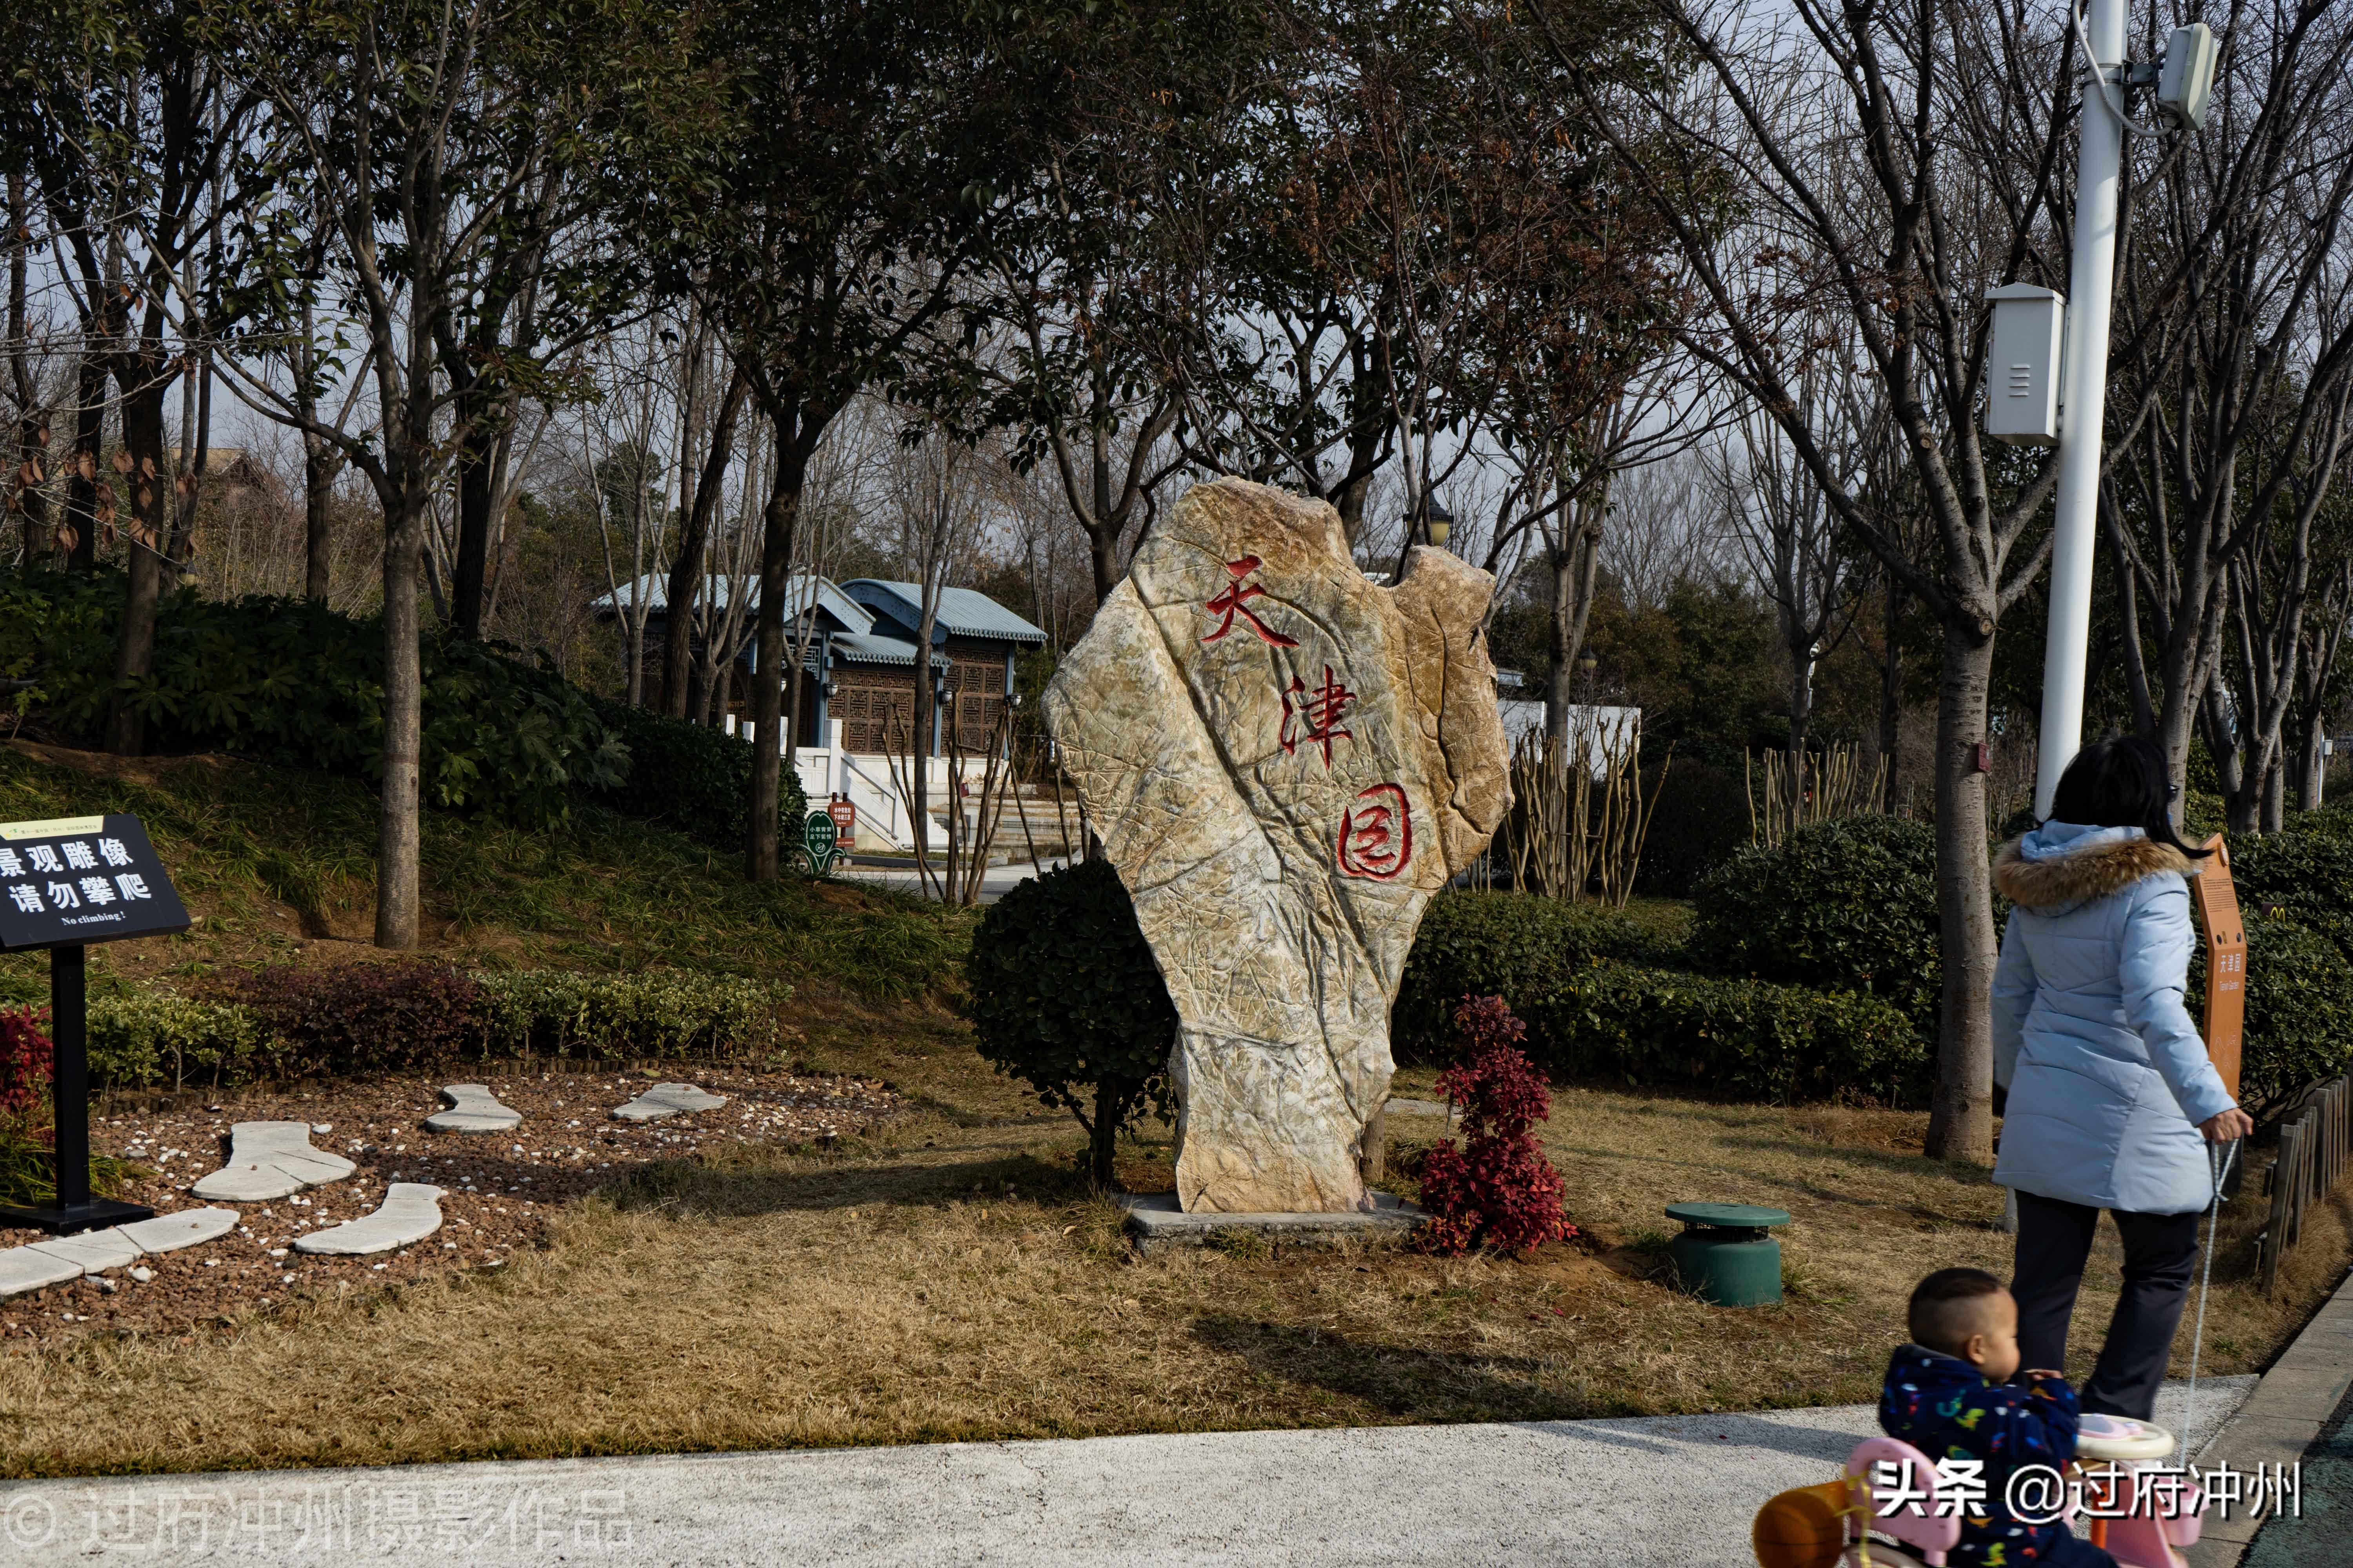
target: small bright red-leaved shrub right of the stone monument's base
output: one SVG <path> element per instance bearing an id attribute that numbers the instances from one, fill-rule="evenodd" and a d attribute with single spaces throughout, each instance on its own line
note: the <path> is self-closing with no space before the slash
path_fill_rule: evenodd
<path id="1" fill-rule="evenodd" d="M 1527 1025 L 1501 997 L 1464 997 L 1454 1034 L 1459 1065 L 1438 1091 L 1464 1107 L 1464 1147 L 1447 1138 L 1421 1159 L 1431 1218 L 1417 1244 L 1454 1258 L 1473 1246 L 1529 1253 L 1567 1241 L 1577 1227 L 1560 1213 L 1565 1182 L 1529 1131 L 1553 1114 L 1553 1095 L 1520 1053 Z"/>

